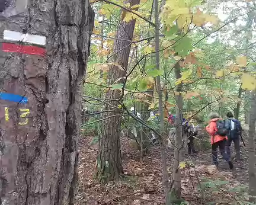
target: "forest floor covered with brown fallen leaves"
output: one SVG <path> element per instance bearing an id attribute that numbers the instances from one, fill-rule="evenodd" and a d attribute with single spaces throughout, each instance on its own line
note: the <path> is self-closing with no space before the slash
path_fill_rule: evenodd
<path id="1" fill-rule="evenodd" d="M 244 135 L 248 145 L 247 134 Z M 106 185 L 93 180 L 96 168 L 97 145 L 91 145 L 92 136 L 81 136 L 79 141 L 79 188 L 76 204 L 164 204 L 161 152 L 151 148 L 143 162 L 139 151 L 132 148 L 130 140 L 122 139 L 121 152 L 125 177 L 120 182 Z M 212 165 L 209 150 L 184 158 L 187 166 L 181 169 L 182 195 L 189 204 L 235 204 L 248 199 L 244 187 L 248 185 L 248 152 L 242 146 L 243 160 L 234 162 L 236 176 L 219 157 L 220 168 Z M 172 153 L 168 153 L 168 168 L 172 172 Z M 189 167 L 192 163 L 194 166 Z M 244 186 L 245 185 L 245 186 Z M 185 203 L 183 203 L 185 204 Z"/>

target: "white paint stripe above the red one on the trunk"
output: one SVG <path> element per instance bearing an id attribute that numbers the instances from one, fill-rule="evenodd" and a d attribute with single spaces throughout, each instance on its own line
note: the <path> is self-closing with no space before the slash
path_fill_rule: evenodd
<path id="1" fill-rule="evenodd" d="M 46 44 L 46 37 L 39 35 L 23 34 L 17 31 L 4 30 L 4 40 L 22 41 L 26 43 L 33 43 L 44 46 Z"/>

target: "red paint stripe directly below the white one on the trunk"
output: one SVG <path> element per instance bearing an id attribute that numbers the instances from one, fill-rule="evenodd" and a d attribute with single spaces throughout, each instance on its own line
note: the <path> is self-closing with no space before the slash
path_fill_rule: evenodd
<path id="1" fill-rule="evenodd" d="M 2 51 L 3 52 L 11 52 L 11 53 L 24 53 L 30 55 L 39 55 L 44 56 L 46 53 L 46 49 L 37 46 L 23 46 L 17 45 L 14 43 L 2 43 Z"/>

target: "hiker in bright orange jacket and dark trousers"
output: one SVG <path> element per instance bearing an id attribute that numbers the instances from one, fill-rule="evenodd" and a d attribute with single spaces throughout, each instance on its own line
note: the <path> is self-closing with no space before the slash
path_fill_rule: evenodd
<path id="1" fill-rule="evenodd" d="M 212 158 L 213 158 L 213 164 L 218 166 L 217 161 L 217 148 L 219 147 L 220 154 L 222 155 L 223 159 L 225 159 L 228 164 L 229 168 L 233 169 L 233 163 L 230 161 L 229 156 L 225 152 L 225 144 L 226 140 L 228 140 L 227 136 L 220 136 L 219 134 L 216 134 L 218 128 L 217 128 L 217 121 L 222 120 L 222 118 L 219 117 L 217 113 L 210 113 L 209 114 L 210 122 L 208 126 L 206 126 L 206 131 L 211 136 L 211 145 L 212 145 Z M 225 126 L 225 121 L 223 121 L 223 126 Z"/>

